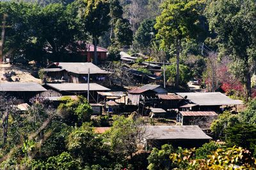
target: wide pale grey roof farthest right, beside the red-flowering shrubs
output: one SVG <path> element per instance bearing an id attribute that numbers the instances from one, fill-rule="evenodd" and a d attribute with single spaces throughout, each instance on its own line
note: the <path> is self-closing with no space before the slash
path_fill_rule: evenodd
<path id="1" fill-rule="evenodd" d="M 189 92 L 177 93 L 179 96 L 187 96 L 188 100 L 200 106 L 218 106 L 218 105 L 237 105 L 243 104 L 243 101 L 230 99 L 220 92 Z"/>

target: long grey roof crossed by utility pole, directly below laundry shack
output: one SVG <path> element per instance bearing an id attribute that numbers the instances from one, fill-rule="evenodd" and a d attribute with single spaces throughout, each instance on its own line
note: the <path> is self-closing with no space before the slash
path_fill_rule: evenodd
<path id="1" fill-rule="evenodd" d="M 53 89 L 59 91 L 87 91 L 88 84 L 87 83 L 47 83 L 46 84 Z M 102 85 L 97 83 L 90 83 L 90 91 L 107 91 L 110 90 Z"/>

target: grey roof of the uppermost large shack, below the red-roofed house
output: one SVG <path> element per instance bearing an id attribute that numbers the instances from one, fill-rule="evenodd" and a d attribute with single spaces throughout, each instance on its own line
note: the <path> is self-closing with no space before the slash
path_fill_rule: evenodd
<path id="1" fill-rule="evenodd" d="M 59 62 L 58 66 L 77 74 L 88 74 L 89 68 L 90 74 L 108 74 L 108 71 L 100 69 L 100 67 L 95 66 L 92 62 Z"/>

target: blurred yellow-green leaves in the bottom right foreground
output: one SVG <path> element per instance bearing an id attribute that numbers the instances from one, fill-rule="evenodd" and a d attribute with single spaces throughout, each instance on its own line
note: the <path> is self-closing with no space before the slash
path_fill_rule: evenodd
<path id="1" fill-rule="evenodd" d="M 243 148 L 219 148 L 208 159 L 195 159 L 195 150 L 172 153 L 170 159 L 176 169 L 253 169 L 256 161 L 248 150 Z"/>

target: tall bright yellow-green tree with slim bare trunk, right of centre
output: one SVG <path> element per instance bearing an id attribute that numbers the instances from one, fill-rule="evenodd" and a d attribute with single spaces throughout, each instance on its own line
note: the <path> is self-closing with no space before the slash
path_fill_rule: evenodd
<path id="1" fill-rule="evenodd" d="M 198 0 L 173 0 L 164 1 L 163 11 L 156 18 L 154 26 L 158 33 L 156 38 L 161 40 L 161 45 L 166 48 L 174 48 L 177 59 L 175 87 L 179 88 L 180 53 L 182 41 L 196 38 L 202 30 L 199 25 L 200 12 L 203 1 Z"/>

